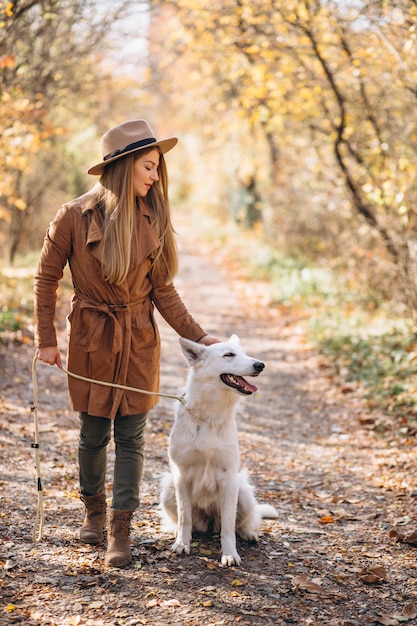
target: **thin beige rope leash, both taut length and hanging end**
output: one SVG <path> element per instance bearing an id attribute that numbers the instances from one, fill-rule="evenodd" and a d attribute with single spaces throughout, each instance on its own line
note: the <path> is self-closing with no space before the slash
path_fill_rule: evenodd
<path id="1" fill-rule="evenodd" d="M 36 363 L 38 358 L 35 356 L 32 362 L 32 385 L 33 385 L 33 406 L 31 407 L 31 411 L 33 413 L 34 420 L 34 433 L 35 433 L 35 441 L 31 444 L 31 448 L 35 450 L 35 470 L 36 470 L 36 486 L 38 492 L 38 504 L 36 507 L 36 517 L 35 524 L 33 527 L 33 541 L 38 543 L 42 540 L 43 536 L 43 526 L 45 521 L 44 516 L 44 504 L 43 504 L 43 491 L 42 491 L 42 477 L 41 477 L 41 467 L 40 467 L 40 439 L 39 439 L 39 417 L 38 417 L 38 385 L 36 381 Z M 178 400 L 182 404 L 185 405 L 185 396 L 182 394 L 181 396 L 176 396 L 170 393 L 161 393 L 158 391 L 148 391 L 146 389 L 138 389 L 136 387 L 127 387 L 126 385 L 119 385 L 117 383 L 107 383 L 104 380 L 96 380 L 95 378 L 87 378 L 86 376 L 81 376 L 80 374 L 74 374 L 66 370 L 64 367 L 59 368 L 64 374 L 67 376 L 72 376 L 73 378 L 78 378 L 79 380 L 84 380 L 88 383 L 93 383 L 94 385 L 102 385 L 103 387 L 113 387 L 115 389 L 123 389 L 124 391 L 133 391 L 135 393 L 143 393 L 148 396 L 160 396 L 162 398 L 171 398 L 173 400 Z"/>

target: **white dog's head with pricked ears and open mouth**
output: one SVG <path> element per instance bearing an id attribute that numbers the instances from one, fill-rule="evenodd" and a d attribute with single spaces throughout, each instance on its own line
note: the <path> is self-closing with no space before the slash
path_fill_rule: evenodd
<path id="1" fill-rule="evenodd" d="M 265 365 L 245 353 L 237 335 L 232 335 L 229 341 L 213 343 L 211 346 L 183 337 L 180 338 L 180 344 L 190 367 L 196 368 L 205 381 L 220 378 L 236 393 L 248 396 L 258 391 L 244 376 L 259 376 Z"/>

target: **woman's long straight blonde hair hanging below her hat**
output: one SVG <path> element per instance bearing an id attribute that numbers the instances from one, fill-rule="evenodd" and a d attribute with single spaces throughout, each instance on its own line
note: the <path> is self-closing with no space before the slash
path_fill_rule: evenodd
<path id="1" fill-rule="evenodd" d="M 109 163 L 95 187 L 97 201 L 104 213 L 102 268 L 106 280 L 120 285 L 126 280 L 131 263 L 132 234 L 137 211 L 133 185 L 135 159 L 149 150 L 141 150 Z M 168 175 L 160 154 L 159 181 L 150 188 L 146 205 L 150 208 L 152 226 L 161 240 L 151 266 L 151 279 L 169 283 L 178 271 L 178 252 L 168 200 Z"/>

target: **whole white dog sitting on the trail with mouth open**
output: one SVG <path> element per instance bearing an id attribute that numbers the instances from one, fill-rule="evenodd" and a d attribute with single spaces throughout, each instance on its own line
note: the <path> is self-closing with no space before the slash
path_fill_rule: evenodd
<path id="1" fill-rule="evenodd" d="M 177 554 L 190 553 L 193 530 L 220 532 L 222 565 L 240 565 L 236 533 L 257 541 L 262 518 L 278 515 L 257 503 L 247 473 L 239 472 L 235 407 L 239 395 L 257 391 L 243 376 L 258 376 L 265 366 L 245 354 L 236 335 L 208 347 L 180 344 L 191 369 L 170 436 L 171 473 L 162 480 L 164 527 L 176 531 Z"/>

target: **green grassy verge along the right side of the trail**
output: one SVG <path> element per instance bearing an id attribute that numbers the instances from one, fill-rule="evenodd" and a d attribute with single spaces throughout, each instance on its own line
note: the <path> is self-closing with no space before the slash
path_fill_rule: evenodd
<path id="1" fill-rule="evenodd" d="M 355 293 L 343 276 L 299 259 L 277 258 L 269 276 L 272 298 L 308 312 L 309 339 L 336 373 L 361 387 L 370 409 L 401 423 L 414 420 L 417 337 L 411 321 L 393 316 L 376 294 Z"/>

